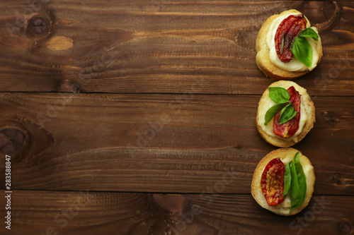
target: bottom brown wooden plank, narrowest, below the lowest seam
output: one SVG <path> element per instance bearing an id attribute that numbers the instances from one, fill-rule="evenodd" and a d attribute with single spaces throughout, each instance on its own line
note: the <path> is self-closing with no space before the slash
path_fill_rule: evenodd
<path id="1" fill-rule="evenodd" d="M 0 199 L 4 205 L 4 197 Z M 318 195 L 280 217 L 251 195 L 13 191 L 1 234 L 351 234 L 354 197 Z M 0 209 L 4 215 L 4 207 Z M 266 232 L 265 232 L 266 231 Z"/>

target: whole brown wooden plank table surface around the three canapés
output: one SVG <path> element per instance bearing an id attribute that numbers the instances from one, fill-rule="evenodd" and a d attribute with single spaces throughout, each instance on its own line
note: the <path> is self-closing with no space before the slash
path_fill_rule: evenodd
<path id="1" fill-rule="evenodd" d="M 255 43 L 290 8 L 324 57 L 296 80 L 314 195 L 281 217 L 250 193 Z M 353 92 L 354 1 L 0 1 L 0 234 L 353 234 Z"/>

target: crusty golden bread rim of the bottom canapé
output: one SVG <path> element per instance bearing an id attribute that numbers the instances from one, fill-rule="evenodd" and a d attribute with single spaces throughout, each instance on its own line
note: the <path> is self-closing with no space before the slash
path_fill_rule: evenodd
<path id="1" fill-rule="evenodd" d="M 251 194 L 252 194 L 253 198 L 256 200 L 256 202 L 259 205 L 261 205 L 261 207 L 263 207 L 267 210 L 270 210 L 271 212 L 273 212 L 277 215 L 290 216 L 290 215 L 297 214 L 298 212 L 302 211 L 304 209 L 304 207 L 307 207 L 307 205 L 309 204 L 309 201 L 312 198 L 312 193 L 314 193 L 314 182 L 313 182 L 313 185 L 311 187 L 307 187 L 307 188 L 310 188 L 310 190 L 307 190 L 306 197 L 304 199 L 304 203 L 302 203 L 302 205 L 300 207 L 297 207 L 296 209 L 292 210 L 291 213 L 289 213 L 289 210 L 286 210 L 286 211 L 276 210 L 277 209 L 276 207 L 269 207 L 268 204 L 266 204 L 265 200 L 261 200 L 261 198 L 260 198 L 260 197 L 264 197 L 264 195 L 263 195 L 262 191 L 260 192 L 261 181 L 259 179 L 261 179 L 260 177 L 263 173 L 263 169 L 268 164 L 268 162 L 270 162 L 271 159 L 274 159 L 276 157 L 280 157 L 280 159 L 282 159 L 282 155 L 287 154 L 287 153 L 291 153 L 295 156 L 296 152 L 299 152 L 299 151 L 295 150 L 292 147 L 280 148 L 278 150 L 273 150 L 272 152 L 268 153 L 268 155 L 265 155 L 265 157 L 263 157 L 263 159 L 261 159 L 261 162 L 258 163 L 258 165 L 253 173 L 253 179 L 252 179 L 252 183 L 251 183 Z M 302 161 L 306 162 L 307 164 L 312 165 L 310 160 L 306 156 L 302 155 L 301 152 L 299 152 L 299 157 Z M 313 174 L 314 181 L 316 181 L 316 176 L 314 175 L 314 171 L 312 171 L 312 174 Z M 263 205 L 264 202 L 266 205 Z"/>

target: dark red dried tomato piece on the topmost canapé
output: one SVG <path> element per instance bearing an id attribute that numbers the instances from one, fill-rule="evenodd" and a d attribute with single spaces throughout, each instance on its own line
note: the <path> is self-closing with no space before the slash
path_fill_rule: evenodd
<path id="1" fill-rule="evenodd" d="M 292 59 L 292 44 L 301 30 L 306 28 L 307 20 L 304 15 L 288 16 L 278 26 L 275 32 L 275 50 L 282 62 Z"/>

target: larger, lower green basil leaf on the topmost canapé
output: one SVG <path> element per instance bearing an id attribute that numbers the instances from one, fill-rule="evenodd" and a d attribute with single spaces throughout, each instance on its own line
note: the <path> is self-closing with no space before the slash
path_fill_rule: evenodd
<path id="1" fill-rule="evenodd" d="M 307 67 L 312 64 L 312 48 L 305 37 L 295 37 L 291 48 L 292 54 Z"/>

